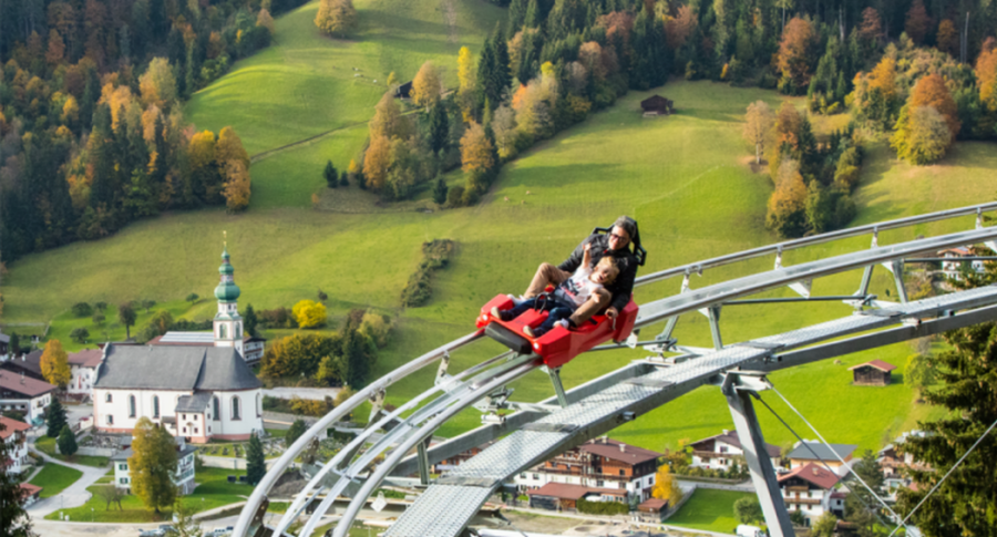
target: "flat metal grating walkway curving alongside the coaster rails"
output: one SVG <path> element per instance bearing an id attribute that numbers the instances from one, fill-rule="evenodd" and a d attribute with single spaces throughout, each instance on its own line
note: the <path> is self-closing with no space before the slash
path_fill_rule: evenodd
<path id="1" fill-rule="evenodd" d="M 929 316 L 948 309 L 973 308 L 997 301 L 997 287 L 935 297 L 893 308 L 856 313 L 778 335 L 733 344 L 677 365 L 625 381 L 585 397 L 537 421 L 532 431 L 516 431 L 481 454 L 436 479 L 409 507 L 386 537 L 456 537 L 485 499 L 511 476 L 551 455 L 623 422 L 624 412 L 643 414 L 707 384 L 717 374 L 773 352 L 897 324 L 905 317 Z M 549 424 L 544 427 L 542 424 Z M 546 428 L 551 432 L 537 431 Z"/>

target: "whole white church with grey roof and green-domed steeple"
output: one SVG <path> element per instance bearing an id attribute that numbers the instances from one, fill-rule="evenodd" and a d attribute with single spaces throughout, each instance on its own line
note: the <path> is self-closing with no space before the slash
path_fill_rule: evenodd
<path id="1" fill-rule="evenodd" d="M 243 358 L 239 288 L 227 249 L 218 271 L 212 342 L 104 345 L 93 384 L 94 428 L 129 433 L 148 417 L 195 444 L 263 431 L 261 383 Z"/>

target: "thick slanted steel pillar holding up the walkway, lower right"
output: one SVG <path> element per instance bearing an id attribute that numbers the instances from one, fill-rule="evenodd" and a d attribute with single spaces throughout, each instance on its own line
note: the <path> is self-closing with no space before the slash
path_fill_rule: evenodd
<path id="1" fill-rule="evenodd" d="M 729 373 L 723 380 L 721 390 L 727 397 L 730 415 L 733 417 L 738 438 L 744 450 L 744 459 L 751 473 L 751 483 L 758 494 L 765 524 L 771 537 L 794 537 L 793 524 L 785 509 L 785 502 L 775 478 L 775 468 L 765 450 L 765 441 L 758 424 L 758 415 L 751 404 L 751 396 L 757 389 L 764 390 L 763 378 Z"/>

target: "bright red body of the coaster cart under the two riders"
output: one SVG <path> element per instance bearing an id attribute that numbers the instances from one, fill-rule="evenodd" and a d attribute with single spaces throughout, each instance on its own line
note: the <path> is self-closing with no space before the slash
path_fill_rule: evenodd
<path id="1" fill-rule="evenodd" d="M 496 296 L 481 308 L 481 314 L 476 321 L 477 328 L 484 328 L 486 335 L 520 354 L 536 353 L 543 359 L 544 365 L 548 368 L 559 368 L 578 354 L 610 339 L 621 343 L 630 335 L 630 331 L 634 330 L 634 321 L 637 320 L 637 303 L 631 298 L 623 311 L 616 316 L 616 319 L 596 314 L 574 330 L 555 326 L 539 338 L 531 338 L 523 333 L 523 328 L 539 327 L 547 318 L 547 312 L 531 309 L 511 321 L 492 317 L 492 308 L 508 310 L 513 306 L 513 300 L 508 296 Z"/>

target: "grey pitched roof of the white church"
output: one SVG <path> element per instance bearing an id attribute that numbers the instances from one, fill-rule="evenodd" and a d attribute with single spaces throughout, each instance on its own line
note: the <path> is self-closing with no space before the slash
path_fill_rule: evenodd
<path id="1" fill-rule="evenodd" d="M 111 345 L 94 388 L 253 390 L 260 388 L 232 347 Z"/>

